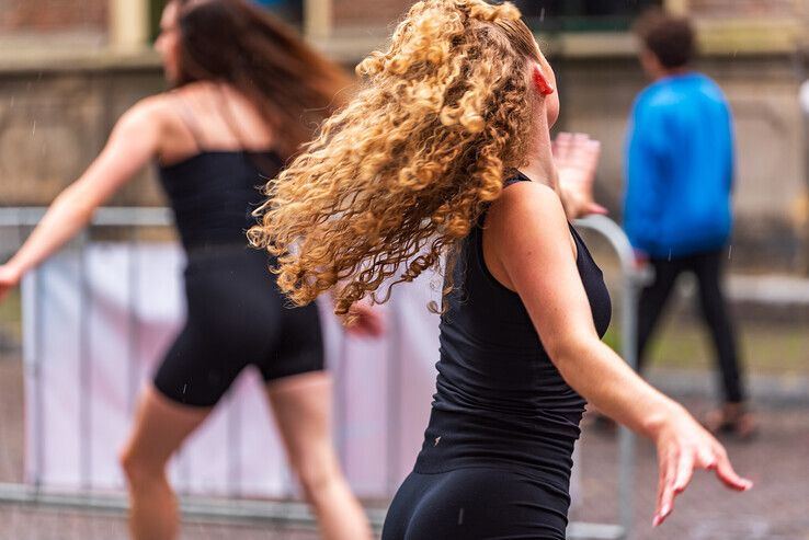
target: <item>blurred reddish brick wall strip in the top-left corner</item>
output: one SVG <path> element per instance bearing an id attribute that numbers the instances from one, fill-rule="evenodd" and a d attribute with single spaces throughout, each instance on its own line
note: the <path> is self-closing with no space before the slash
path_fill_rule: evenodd
<path id="1" fill-rule="evenodd" d="M 103 32 L 106 7 L 107 0 L 0 0 L 0 32 Z"/>

